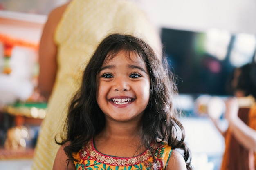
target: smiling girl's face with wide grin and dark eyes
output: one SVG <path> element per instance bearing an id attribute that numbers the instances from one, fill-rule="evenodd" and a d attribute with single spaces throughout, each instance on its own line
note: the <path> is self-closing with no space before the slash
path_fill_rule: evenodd
<path id="1" fill-rule="evenodd" d="M 145 62 L 135 53 L 120 51 L 106 59 L 97 74 L 97 103 L 107 120 L 140 120 L 150 96 Z"/>

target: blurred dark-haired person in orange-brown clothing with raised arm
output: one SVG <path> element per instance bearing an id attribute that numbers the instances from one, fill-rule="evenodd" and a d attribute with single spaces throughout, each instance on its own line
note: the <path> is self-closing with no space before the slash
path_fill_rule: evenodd
<path id="1" fill-rule="evenodd" d="M 234 69 L 230 82 L 234 97 L 225 101 L 227 130 L 209 114 L 225 138 L 220 170 L 255 170 L 256 165 L 256 66 L 246 64 Z"/>

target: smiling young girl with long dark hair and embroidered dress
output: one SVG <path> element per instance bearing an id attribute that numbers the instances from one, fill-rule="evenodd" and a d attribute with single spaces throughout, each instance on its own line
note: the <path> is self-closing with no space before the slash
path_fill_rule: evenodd
<path id="1" fill-rule="evenodd" d="M 139 38 L 106 37 L 71 101 L 53 170 L 191 170 L 166 63 Z"/>

